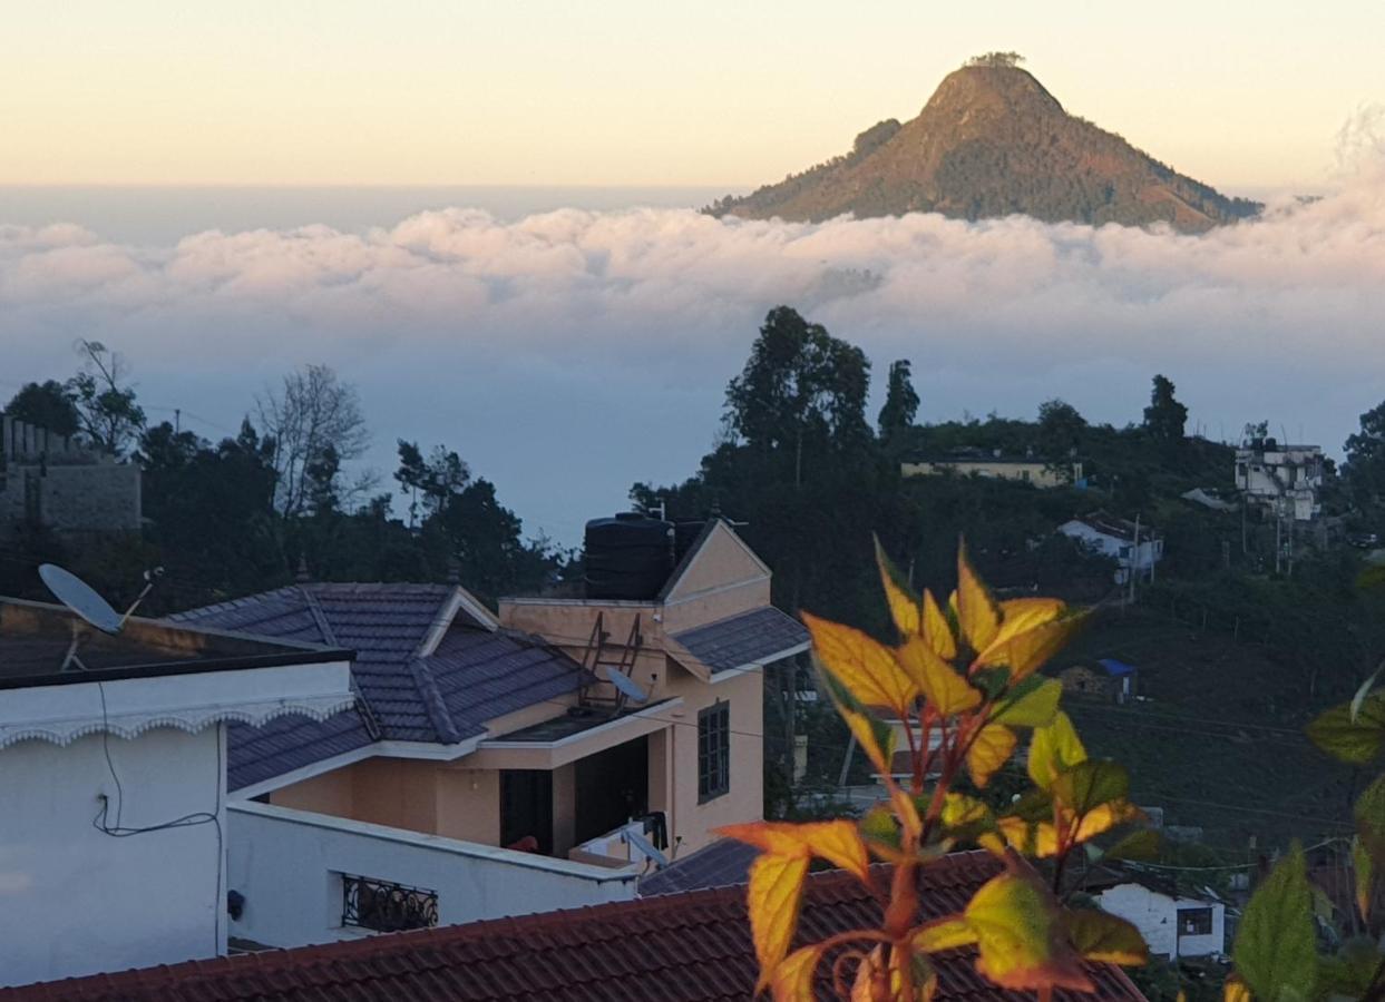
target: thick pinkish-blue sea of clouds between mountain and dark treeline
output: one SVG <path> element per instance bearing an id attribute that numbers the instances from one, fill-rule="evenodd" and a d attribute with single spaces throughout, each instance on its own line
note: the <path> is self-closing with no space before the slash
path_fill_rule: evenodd
<path id="1" fill-rule="evenodd" d="M 1339 451 L 1385 399 L 1385 172 L 1195 237 L 669 209 L 447 209 L 172 246 L 0 224 L 0 396 L 68 375 L 75 339 L 93 338 L 145 403 L 215 437 L 284 371 L 323 361 L 359 386 L 381 471 L 396 437 L 447 443 L 532 530 L 575 543 L 633 480 L 695 471 L 780 303 L 864 347 L 877 389 L 913 360 L 927 419 L 1060 396 L 1122 425 L 1165 372 L 1190 430 L 1269 419 Z"/>

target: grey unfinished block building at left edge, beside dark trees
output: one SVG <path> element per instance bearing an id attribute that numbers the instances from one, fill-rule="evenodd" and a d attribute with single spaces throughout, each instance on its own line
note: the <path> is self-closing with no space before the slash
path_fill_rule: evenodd
<path id="1" fill-rule="evenodd" d="M 140 515 L 137 465 L 0 415 L 0 538 L 24 525 L 64 536 L 138 531 Z"/>

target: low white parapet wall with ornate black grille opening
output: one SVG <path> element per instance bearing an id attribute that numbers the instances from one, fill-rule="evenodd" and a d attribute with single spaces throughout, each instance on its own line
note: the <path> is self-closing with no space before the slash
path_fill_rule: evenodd
<path id="1" fill-rule="evenodd" d="M 229 886 L 245 895 L 231 936 L 299 947 L 366 934 L 342 927 L 342 873 L 438 893 L 439 924 L 634 897 L 637 871 L 511 853 L 309 811 L 227 811 Z"/>

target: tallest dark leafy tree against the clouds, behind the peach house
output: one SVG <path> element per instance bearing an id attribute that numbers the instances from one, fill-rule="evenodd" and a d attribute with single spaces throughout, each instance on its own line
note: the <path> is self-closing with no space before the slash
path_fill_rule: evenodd
<path id="1" fill-rule="evenodd" d="M 766 316 L 745 368 L 726 390 L 724 421 L 733 435 L 765 453 L 794 450 L 794 480 L 801 483 L 805 450 L 870 440 L 868 390 L 864 352 L 778 306 Z"/>

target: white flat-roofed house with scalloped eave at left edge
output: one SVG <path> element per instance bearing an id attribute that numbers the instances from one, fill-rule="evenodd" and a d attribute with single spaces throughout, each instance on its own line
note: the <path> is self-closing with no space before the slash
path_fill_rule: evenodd
<path id="1" fill-rule="evenodd" d="M 224 954 L 227 729 L 332 720 L 348 659 L 0 599 L 0 984 Z"/>

